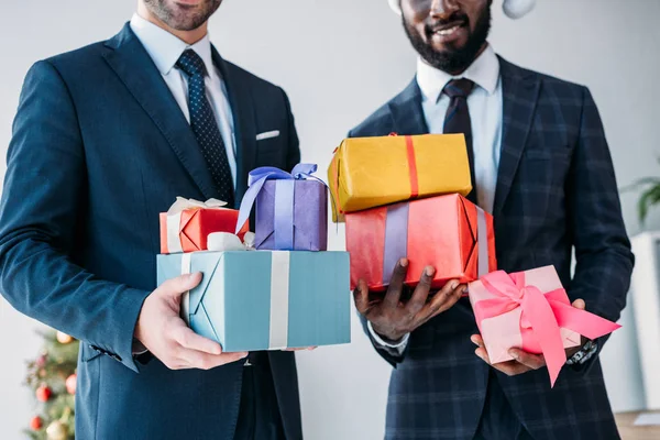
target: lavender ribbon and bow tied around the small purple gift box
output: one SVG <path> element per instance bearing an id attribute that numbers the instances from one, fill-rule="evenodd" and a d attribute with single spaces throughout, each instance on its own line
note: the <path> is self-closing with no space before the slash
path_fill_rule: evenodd
<path id="1" fill-rule="evenodd" d="M 239 221 L 237 223 L 237 233 L 239 233 L 238 224 L 245 224 L 250 217 L 252 206 L 256 197 L 261 193 L 266 180 L 276 180 L 275 183 L 275 248 L 277 249 L 294 249 L 294 184 L 295 180 L 314 179 L 320 182 L 323 186 L 327 185 L 316 176 L 312 176 L 317 170 L 316 164 L 298 164 L 292 173 L 283 169 L 263 166 L 250 172 L 248 178 L 248 191 L 241 201 L 239 211 Z"/>

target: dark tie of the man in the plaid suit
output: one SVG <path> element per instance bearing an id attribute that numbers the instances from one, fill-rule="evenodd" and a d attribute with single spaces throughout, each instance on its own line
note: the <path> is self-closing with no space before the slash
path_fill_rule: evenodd
<path id="1" fill-rule="evenodd" d="M 468 158 L 470 161 L 470 175 L 472 177 L 472 191 L 468 195 L 468 200 L 476 205 L 476 180 L 474 176 L 474 151 L 472 150 L 472 123 L 470 122 L 470 111 L 468 109 L 468 96 L 474 88 L 474 82 L 470 79 L 453 79 L 444 86 L 442 92 L 451 101 L 444 114 L 444 133 L 465 134 L 465 144 L 468 146 Z"/>

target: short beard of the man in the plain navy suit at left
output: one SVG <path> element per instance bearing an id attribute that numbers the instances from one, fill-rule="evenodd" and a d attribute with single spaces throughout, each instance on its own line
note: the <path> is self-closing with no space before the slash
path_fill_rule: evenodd
<path id="1" fill-rule="evenodd" d="M 170 0 L 144 0 L 151 13 L 177 31 L 193 31 L 201 26 L 218 10 L 222 0 L 205 0 L 199 7 L 186 10 Z"/>

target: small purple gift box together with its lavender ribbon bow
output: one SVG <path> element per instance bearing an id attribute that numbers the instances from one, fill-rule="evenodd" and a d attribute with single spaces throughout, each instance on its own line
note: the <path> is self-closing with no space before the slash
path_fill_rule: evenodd
<path id="1" fill-rule="evenodd" d="M 274 167 L 250 173 L 238 224 L 248 221 L 256 204 L 256 249 L 326 251 L 328 188 L 312 176 L 316 170 L 315 164 L 298 164 L 290 174 Z"/>

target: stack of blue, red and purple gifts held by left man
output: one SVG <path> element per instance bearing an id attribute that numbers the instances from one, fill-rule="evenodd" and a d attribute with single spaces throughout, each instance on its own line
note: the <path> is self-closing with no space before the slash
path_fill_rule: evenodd
<path id="1" fill-rule="evenodd" d="M 202 273 L 182 316 L 224 352 L 350 342 L 349 254 L 326 252 L 328 190 L 315 170 L 253 170 L 240 211 L 178 199 L 161 215 L 158 284 Z"/>

